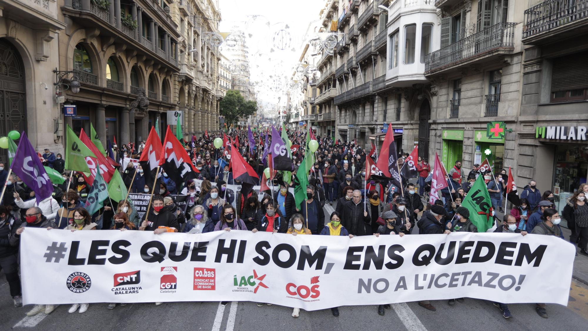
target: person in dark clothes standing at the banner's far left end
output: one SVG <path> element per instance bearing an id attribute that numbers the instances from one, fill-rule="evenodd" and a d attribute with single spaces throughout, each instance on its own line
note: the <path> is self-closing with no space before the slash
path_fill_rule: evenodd
<path id="1" fill-rule="evenodd" d="M 14 219 L 12 208 L 0 205 L 0 269 L 4 271 L 15 307 L 22 306 L 21 279 L 18 276 L 19 238 L 14 238 L 21 221 Z"/>

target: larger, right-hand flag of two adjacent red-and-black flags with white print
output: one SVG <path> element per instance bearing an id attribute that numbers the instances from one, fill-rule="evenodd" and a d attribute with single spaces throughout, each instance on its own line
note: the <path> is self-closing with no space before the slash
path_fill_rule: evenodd
<path id="1" fill-rule="evenodd" d="M 172 178 L 178 185 L 185 183 L 187 180 L 197 178 L 198 173 L 200 173 L 192 164 L 188 152 L 173 135 L 169 126 L 165 133 L 165 140 L 163 140 L 159 165 L 163 166 L 163 170 L 165 170 L 169 178 Z"/>

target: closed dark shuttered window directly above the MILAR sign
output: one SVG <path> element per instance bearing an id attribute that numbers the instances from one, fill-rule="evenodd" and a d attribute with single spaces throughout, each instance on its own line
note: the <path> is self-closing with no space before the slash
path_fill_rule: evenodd
<path id="1" fill-rule="evenodd" d="M 588 52 L 553 60 L 552 92 L 588 88 Z"/>

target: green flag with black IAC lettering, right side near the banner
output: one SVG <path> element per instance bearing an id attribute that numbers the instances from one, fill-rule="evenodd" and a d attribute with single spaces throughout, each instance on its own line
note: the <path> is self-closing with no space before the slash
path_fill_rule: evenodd
<path id="1" fill-rule="evenodd" d="M 494 225 L 492 217 L 492 201 L 484 182 L 484 176 L 479 176 L 462 201 L 462 207 L 470 212 L 470 221 L 476 225 L 478 232 L 486 232 Z"/>

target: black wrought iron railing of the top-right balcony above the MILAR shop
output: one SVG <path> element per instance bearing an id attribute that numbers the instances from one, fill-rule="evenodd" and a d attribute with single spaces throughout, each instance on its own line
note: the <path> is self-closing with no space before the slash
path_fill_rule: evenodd
<path id="1" fill-rule="evenodd" d="M 524 11 L 523 38 L 588 17 L 588 0 L 547 0 Z"/>

